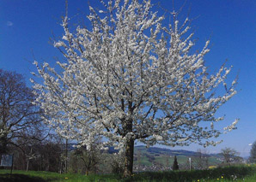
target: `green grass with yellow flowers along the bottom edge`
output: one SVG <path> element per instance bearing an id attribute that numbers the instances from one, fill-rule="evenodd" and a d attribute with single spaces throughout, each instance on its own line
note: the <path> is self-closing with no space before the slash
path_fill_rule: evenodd
<path id="1" fill-rule="evenodd" d="M 131 179 L 122 179 L 115 174 L 89 175 L 59 174 L 51 172 L 24 172 L 14 171 L 9 176 L 9 170 L 0 170 L 0 181 L 26 181 L 26 182 L 87 182 L 87 181 L 175 181 L 175 182 L 199 182 L 199 181 L 256 181 L 256 165 L 244 165 L 235 167 L 222 167 L 210 170 L 178 171 L 178 172 L 145 172 L 135 173 Z"/>

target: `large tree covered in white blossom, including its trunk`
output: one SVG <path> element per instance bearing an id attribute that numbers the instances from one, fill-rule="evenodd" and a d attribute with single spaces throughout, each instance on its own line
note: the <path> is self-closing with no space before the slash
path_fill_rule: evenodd
<path id="1" fill-rule="evenodd" d="M 102 146 L 125 151 L 124 176 L 132 173 L 135 141 L 215 145 L 210 138 L 221 131 L 214 123 L 223 119 L 215 113 L 235 95 L 236 81 L 225 83 L 230 68 L 224 66 L 207 72 L 209 41 L 191 53 L 188 19 L 180 24 L 173 14 L 174 23 L 164 27 L 150 1 L 101 3 L 106 9 L 89 8 L 89 28 L 72 33 L 64 17 L 64 36 L 54 44 L 66 60 L 57 62 L 60 68 L 34 62 L 43 79 L 32 80 L 37 103 L 48 123 L 88 149 L 94 138 L 103 138 Z M 223 89 L 216 91 L 219 85 Z"/>

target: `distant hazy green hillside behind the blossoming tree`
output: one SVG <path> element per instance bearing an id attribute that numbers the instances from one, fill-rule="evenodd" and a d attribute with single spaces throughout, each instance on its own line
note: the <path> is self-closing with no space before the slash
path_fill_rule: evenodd
<path id="1" fill-rule="evenodd" d="M 63 149 L 65 145 L 62 144 Z M 68 150 L 76 150 L 76 144 L 68 144 Z M 113 147 L 109 147 L 108 154 L 118 153 Z M 134 148 L 134 167 L 136 171 L 162 171 L 169 170 L 174 162 L 174 156 L 177 156 L 180 167 L 183 169 L 189 167 L 189 158 L 192 159 L 192 166 L 200 165 L 200 153 L 190 150 L 170 150 L 159 147 L 146 148 L 144 145 L 138 145 Z M 204 162 L 207 166 L 217 166 L 222 163 L 220 154 L 203 154 Z M 202 160 L 202 159 L 201 159 Z M 199 162 L 199 163 L 198 163 Z M 202 161 L 201 161 L 202 162 Z"/>

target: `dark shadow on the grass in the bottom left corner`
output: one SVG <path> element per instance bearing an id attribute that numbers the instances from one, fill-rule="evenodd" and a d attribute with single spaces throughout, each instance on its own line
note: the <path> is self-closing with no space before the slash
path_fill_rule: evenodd
<path id="1" fill-rule="evenodd" d="M 25 174 L 18 174 L 18 173 L 14 173 L 11 176 L 9 175 L 9 173 L 3 173 L 0 174 L 0 181 L 3 182 L 21 182 L 21 181 L 26 181 L 26 182 L 46 182 L 45 179 L 41 179 L 40 177 L 32 177 L 32 176 L 28 176 Z M 49 181 L 49 180 L 47 180 Z"/>

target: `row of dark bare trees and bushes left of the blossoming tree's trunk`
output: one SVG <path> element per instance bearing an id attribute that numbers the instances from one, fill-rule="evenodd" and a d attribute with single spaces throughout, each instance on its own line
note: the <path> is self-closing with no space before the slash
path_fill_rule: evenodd
<path id="1" fill-rule="evenodd" d="M 124 171 L 124 156 L 110 154 L 107 150 L 98 149 L 96 145 L 89 151 L 86 147 L 66 148 L 64 140 L 47 138 L 37 144 L 11 148 L 15 154 L 14 169 L 87 175 Z"/>

